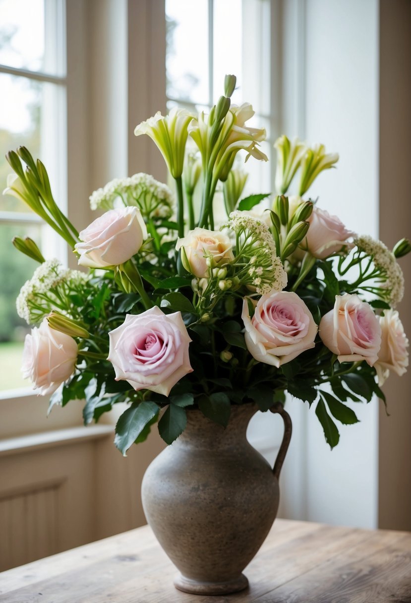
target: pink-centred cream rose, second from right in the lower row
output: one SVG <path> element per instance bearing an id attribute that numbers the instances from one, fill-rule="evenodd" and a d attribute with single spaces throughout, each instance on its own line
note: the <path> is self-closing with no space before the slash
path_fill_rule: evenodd
<path id="1" fill-rule="evenodd" d="M 339 362 L 377 362 L 381 346 L 378 318 L 358 295 L 336 295 L 334 308 L 319 323 L 319 336 Z"/>

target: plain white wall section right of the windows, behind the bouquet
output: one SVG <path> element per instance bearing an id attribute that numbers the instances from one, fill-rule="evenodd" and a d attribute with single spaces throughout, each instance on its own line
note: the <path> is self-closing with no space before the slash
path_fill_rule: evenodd
<path id="1" fill-rule="evenodd" d="M 319 206 L 351 230 L 377 237 L 378 2 L 295 4 L 305 46 L 305 102 L 303 115 L 290 119 L 285 110 L 284 119 L 303 124 L 305 131 L 287 134 L 339 152 L 337 169 L 321 174 L 310 196 L 319 196 Z M 313 409 L 297 400 L 286 408 L 295 430 L 283 469 L 283 516 L 377 527 L 378 401 L 353 406 L 361 423 L 339 425 L 340 443 L 333 451 Z"/>

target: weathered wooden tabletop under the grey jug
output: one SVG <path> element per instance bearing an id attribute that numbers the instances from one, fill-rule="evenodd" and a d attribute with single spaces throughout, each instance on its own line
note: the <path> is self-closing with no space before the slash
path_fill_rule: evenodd
<path id="1" fill-rule="evenodd" d="M 245 570 L 249 589 L 195 596 L 148 526 L 0 573 L 7 603 L 407 603 L 411 534 L 277 519 Z"/>

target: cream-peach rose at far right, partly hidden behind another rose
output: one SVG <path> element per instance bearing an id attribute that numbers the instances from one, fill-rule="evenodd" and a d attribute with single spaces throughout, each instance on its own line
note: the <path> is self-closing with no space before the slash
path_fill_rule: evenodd
<path id="1" fill-rule="evenodd" d="M 400 376 L 406 373 L 409 343 L 397 310 L 384 310 L 384 315 L 380 316 L 379 320 L 381 347 L 374 367 L 377 370 L 378 384 L 383 385 L 390 370 Z"/>

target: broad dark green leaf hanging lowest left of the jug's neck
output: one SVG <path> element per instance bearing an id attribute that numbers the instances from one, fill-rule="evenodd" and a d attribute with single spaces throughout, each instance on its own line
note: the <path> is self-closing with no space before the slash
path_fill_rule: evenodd
<path id="1" fill-rule="evenodd" d="M 145 426 L 157 417 L 160 408 L 154 402 L 134 402 L 123 412 L 116 424 L 115 446 L 123 456 L 137 440 Z"/>

